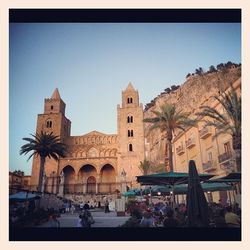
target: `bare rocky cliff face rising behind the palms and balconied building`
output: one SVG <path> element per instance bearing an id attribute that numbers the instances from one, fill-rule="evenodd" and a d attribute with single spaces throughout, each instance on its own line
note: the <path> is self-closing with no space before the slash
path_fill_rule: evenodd
<path id="1" fill-rule="evenodd" d="M 160 110 L 160 106 L 166 103 L 176 104 L 177 110 L 189 112 L 192 117 L 198 112 L 201 105 L 212 103 L 213 96 L 223 93 L 230 83 L 240 77 L 241 67 L 206 73 L 201 76 L 190 76 L 177 90 L 161 93 L 155 98 L 154 105 L 144 110 L 144 118 L 154 117 L 152 111 Z M 145 124 L 146 158 L 154 164 L 163 164 L 166 150 L 165 136 L 159 130 L 149 131 L 149 126 L 149 123 Z"/>

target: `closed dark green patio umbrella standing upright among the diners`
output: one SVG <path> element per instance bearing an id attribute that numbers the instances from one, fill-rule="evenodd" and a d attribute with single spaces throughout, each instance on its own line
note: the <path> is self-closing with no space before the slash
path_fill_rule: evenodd
<path id="1" fill-rule="evenodd" d="M 193 160 L 189 161 L 187 214 L 189 227 L 208 227 L 208 204 Z"/>

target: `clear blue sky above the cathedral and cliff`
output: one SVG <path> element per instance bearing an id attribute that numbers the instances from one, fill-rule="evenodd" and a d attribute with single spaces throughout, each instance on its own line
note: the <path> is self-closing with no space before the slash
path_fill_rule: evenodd
<path id="1" fill-rule="evenodd" d="M 145 105 L 198 67 L 241 62 L 240 24 L 12 23 L 9 38 L 9 162 L 25 174 L 32 160 L 19 155 L 22 138 L 35 133 L 55 88 L 71 135 L 112 134 L 130 81 Z"/>

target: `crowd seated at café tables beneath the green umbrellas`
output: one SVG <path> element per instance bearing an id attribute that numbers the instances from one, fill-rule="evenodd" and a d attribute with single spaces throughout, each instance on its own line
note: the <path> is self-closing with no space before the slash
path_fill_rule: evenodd
<path id="1" fill-rule="evenodd" d="M 188 227 L 187 206 L 184 203 L 173 206 L 169 201 L 149 204 L 148 201 L 134 201 L 128 205 L 131 217 L 123 227 Z M 223 206 L 208 204 L 209 227 L 240 227 L 239 204 Z"/>

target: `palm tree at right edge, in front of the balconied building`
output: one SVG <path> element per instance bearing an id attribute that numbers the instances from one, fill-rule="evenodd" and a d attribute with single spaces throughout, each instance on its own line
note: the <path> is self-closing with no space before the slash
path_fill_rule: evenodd
<path id="1" fill-rule="evenodd" d="M 213 138 L 221 134 L 232 136 L 233 150 L 236 157 L 237 171 L 241 171 L 241 96 L 238 96 L 230 84 L 228 93 L 222 93 L 214 98 L 222 105 L 224 113 L 209 106 L 201 106 L 202 111 L 197 113 L 211 120 L 205 120 L 205 126 L 213 126 L 216 133 Z"/>

